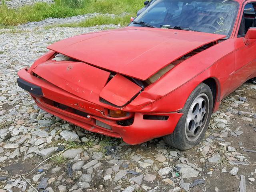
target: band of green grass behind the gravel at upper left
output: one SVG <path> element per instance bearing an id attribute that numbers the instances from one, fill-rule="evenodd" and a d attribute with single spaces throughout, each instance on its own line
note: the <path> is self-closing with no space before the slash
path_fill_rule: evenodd
<path id="1" fill-rule="evenodd" d="M 49 17 L 66 18 L 94 12 L 116 15 L 128 12 L 136 16 L 137 10 L 143 7 L 144 2 L 144 0 L 83 0 L 81 5 L 74 7 L 74 4 L 68 4 L 71 1 L 55 0 L 53 4 L 38 2 L 32 6 L 23 6 L 17 9 L 8 8 L 5 4 L 2 4 L 0 5 L 0 26 L 17 26 L 26 22 L 41 21 Z M 66 2 L 66 4 L 63 2 Z M 98 21 L 106 22 L 106 18 L 98 18 Z M 118 19 L 110 21 L 117 23 Z M 90 22 L 95 22 L 95 20 Z M 119 22 L 124 23 L 124 20 L 119 18 Z"/>

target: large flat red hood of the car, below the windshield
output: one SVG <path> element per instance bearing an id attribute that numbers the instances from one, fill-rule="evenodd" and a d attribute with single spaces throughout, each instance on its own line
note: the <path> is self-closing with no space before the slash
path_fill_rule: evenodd
<path id="1" fill-rule="evenodd" d="M 146 80 L 192 50 L 224 37 L 184 30 L 126 27 L 74 36 L 48 49 L 99 68 Z"/>

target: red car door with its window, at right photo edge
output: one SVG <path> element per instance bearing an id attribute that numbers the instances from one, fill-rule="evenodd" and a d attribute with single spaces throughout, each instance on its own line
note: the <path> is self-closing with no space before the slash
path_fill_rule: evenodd
<path id="1" fill-rule="evenodd" d="M 250 10 L 250 11 L 248 11 Z M 244 42 L 244 37 L 248 28 L 256 27 L 256 2 L 246 1 L 243 4 L 243 11 L 240 16 L 240 25 L 235 41 L 235 71 L 232 73 L 231 88 L 234 90 L 246 80 L 253 78 L 256 75 L 256 40 L 249 44 Z"/>

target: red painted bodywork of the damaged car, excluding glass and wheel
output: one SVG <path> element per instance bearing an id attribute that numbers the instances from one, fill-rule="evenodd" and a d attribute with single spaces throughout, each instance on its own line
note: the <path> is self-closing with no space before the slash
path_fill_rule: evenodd
<path id="1" fill-rule="evenodd" d="M 238 1 L 238 17 L 226 40 L 217 34 L 141 27 L 83 34 L 52 44 L 48 48 L 53 51 L 18 75 L 42 89 L 43 95 L 32 94 L 40 108 L 86 130 L 122 137 L 129 144 L 172 134 L 183 115 L 180 110 L 200 83 L 209 78 L 215 82 L 216 111 L 222 98 L 256 77 L 256 40 L 248 35 L 238 37 L 247 2 L 252 1 Z M 217 40 L 218 44 L 176 64 L 146 88 L 127 78 L 146 80 L 178 58 Z M 53 61 L 55 52 L 78 62 Z M 108 116 L 109 110 L 118 109 L 128 116 Z M 144 118 L 148 114 L 168 119 L 148 120 Z M 127 126 L 120 123 L 126 120 L 133 122 Z M 97 121 L 108 126 L 98 126 Z"/>

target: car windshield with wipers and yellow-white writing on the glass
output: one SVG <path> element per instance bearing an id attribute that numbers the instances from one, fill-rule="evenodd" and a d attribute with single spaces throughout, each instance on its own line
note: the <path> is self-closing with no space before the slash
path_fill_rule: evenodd
<path id="1" fill-rule="evenodd" d="M 238 3 L 231 0 L 157 0 L 129 26 L 176 28 L 198 32 L 231 33 Z"/>

